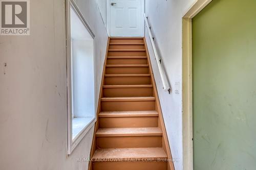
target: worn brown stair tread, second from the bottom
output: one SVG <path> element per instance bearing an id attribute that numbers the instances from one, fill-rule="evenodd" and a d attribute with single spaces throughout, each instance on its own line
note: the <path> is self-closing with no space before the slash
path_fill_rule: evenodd
<path id="1" fill-rule="evenodd" d="M 162 131 L 159 128 L 100 128 L 96 136 L 162 136 Z"/>

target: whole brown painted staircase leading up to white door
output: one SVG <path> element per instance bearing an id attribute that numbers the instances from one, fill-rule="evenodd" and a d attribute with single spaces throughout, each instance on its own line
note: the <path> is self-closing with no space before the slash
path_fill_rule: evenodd
<path id="1" fill-rule="evenodd" d="M 89 169 L 174 169 L 145 40 L 110 38 L 106 55 Z"/>

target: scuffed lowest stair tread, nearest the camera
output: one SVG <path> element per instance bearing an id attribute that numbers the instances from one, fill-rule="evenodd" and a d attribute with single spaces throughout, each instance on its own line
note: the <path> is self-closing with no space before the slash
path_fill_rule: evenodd
<path id="1" fill-rule="evenodd" d="M 119 158 L 167 158 L 162 148 L 118 148 L 118 149 L 97 149 L 93 155 L 93 161 Z"/>

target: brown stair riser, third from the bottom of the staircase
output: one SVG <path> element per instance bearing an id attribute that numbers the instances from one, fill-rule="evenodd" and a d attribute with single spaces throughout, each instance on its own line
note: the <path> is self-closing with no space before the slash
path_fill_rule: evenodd
<path id="1" fill-rule="evenodd" d="M 100 128 L 158 127 L 158 117 L 100 117 Z"/>

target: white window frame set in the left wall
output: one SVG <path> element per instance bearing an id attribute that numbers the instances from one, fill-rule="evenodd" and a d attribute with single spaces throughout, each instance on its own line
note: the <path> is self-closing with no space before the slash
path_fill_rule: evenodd
<path id="1" fill-rule="evenodd" d="M 78 143 L 82 140 L 82 138 L 88 133 L 88 131 L 94 126 L 96 122 L 96 88 L 94 90 L 94 99 L 95 99 L 95 116 L 91 120 L 91 122 L 83 128 L 83 130 L 78 133 L 78 135 L 72 139 L 72 45 L 71 45 L 71 23 L 70 23 L 70 9 L 73 9 L 80 21 L 83 23 L 84 27 L 88 30 L 88 32 L 91 34 L 93 41 L 95 39 L 95 34 L 93 33 L 92 29 L 88 25 L 88 22 L 86 19 L 82 16 L 82 13 L 78 9 L 77 5 L 73 0 L 66 0 L 66 50 L 67 50 L 67 92 L 68 92 L 68 131 L 67 131 L 67 154 L 71 155 L 72 151 L 76 148 Z M 93 42 L 95 46 L 95 41 Z M 95 79 L 95 48 L 93 49 L 93 67 L 94 67 L 94 87 L 96 85 L 96 79 Z"/>

